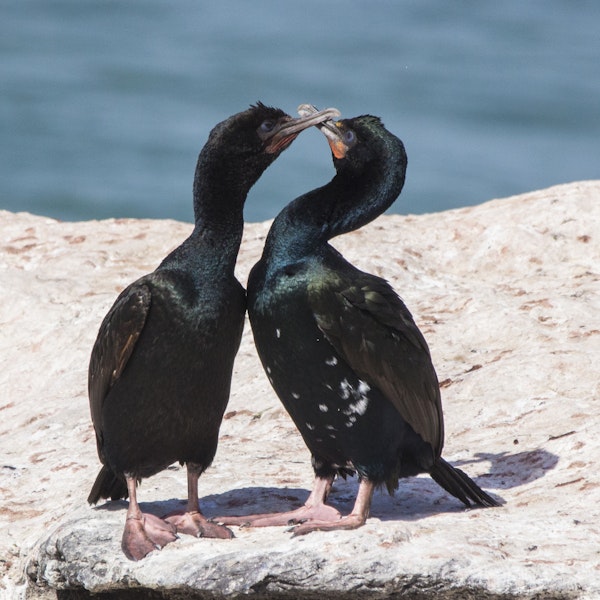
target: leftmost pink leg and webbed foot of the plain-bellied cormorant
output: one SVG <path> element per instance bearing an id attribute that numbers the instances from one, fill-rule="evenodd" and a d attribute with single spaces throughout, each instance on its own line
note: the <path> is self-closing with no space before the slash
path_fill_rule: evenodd
<path id="1" fill-rule="evenodd" d="M 143 513 L 137 503 L 136 481 L 126 477 L 129 507 L 121 539 L 121 548 L 129 560 L 140 560 L 153 550 L 177 539 L 175 528 L 158 517 Z"/>

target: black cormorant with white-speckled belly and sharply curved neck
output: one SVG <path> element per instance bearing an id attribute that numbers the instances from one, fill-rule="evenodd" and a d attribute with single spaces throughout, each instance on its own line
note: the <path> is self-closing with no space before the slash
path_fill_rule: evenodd
<path id="1" fill-rule="evenodd" d="M 319 128 L 336 175 L 277 216 L 248 281 L 256 348 L 312 453 L 315 485 L 298 510 L 220 520 L 292 522 L 295 535 L 353 529 L 367 519 L 376 487 L 392 493 L 399 478 L 424 472 L 467 506 L 497 506 L 441 456 L 438 379 L 410 312 L 385 280 L 358 270 L 328 243 L 396 199 L 406 172 L 404 146 L 373 116 Z M 356 503 L 341 518 L 325 501 L 336 475 L 353 473 L 360 479 Z"/>

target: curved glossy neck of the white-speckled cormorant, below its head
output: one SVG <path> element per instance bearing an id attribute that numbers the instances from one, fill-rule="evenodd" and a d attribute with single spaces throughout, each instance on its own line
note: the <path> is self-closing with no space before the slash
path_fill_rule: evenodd
<path id="1" fill-rule="evenodd" d="M 373 164 L 360 176 L 340 171 L 327 185 L 290 203 L 271 227 L 263 260 L 274 269 L 298 262 L 319 254 L 330 239 L 374 220 L 404 184 L 404 169 L 386 166 Z"/>

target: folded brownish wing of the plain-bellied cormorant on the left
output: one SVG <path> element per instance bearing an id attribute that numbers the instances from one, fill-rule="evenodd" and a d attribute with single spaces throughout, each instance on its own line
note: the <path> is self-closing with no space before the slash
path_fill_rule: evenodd
<path id="1" fill-rule="evenodd" d="M 150 309 L 150 288 L 143 281 L 127 287 L 100 325 L 88 370 L 88 394 L 98 453 L 102 447 L 102 406 L 131 357 Z"/>

